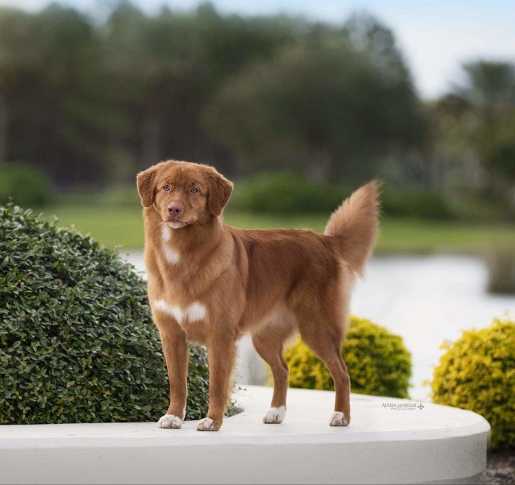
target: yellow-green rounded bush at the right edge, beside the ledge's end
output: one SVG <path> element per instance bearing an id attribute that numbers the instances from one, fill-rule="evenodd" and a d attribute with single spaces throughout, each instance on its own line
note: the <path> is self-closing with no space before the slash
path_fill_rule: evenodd
<path id="1" fill-rule="evenodd" d="M 492 449 L 515 445 L 515 321 L 497 318 L 442 348 L 433 401 L 484 416 L 492 427 Z"/>

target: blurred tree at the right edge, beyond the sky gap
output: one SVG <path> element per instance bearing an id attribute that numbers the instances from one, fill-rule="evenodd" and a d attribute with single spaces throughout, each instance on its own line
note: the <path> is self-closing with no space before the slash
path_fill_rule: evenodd
<path id="1" fill-rule="evenodd" d="M 437 156 L 515 207 L 515 64 L 465 64 L 463 81 L 433 113 Z"/>

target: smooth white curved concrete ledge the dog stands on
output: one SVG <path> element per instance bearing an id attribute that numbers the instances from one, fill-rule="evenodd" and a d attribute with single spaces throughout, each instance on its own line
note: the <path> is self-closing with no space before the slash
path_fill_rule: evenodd
<path id="1" fill-rule="evenodd" d="M 485 469 L 490 427 L 478 414 L 353 394 L 351 425 L 329 427 L 334 393 L 290 389 L 284 423 L 264 425 L 271 394 L 240 391 L 244 412 L 218 433 L 196 422 L 0 426 L 0 483 L 472 483 Z"/>

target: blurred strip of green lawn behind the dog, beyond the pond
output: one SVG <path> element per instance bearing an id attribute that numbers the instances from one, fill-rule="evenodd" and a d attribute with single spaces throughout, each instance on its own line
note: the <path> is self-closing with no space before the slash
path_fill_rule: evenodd
<path id="1" fill-rule="evenodd" d="M 125 249 L 142 248 L 144 241 L 141 211 L 115 206 L 58 205 L 44 210 L 57 215 L 58 224 L 74 225 L 81 233 L 90 233 L 106 246 Z M 242 228 L 312 228 L 321 231 L 325 215 L 292 217 L 231 213 L 225 222 Z M 385 219 L 376 252 L 483 252 L 490 248 L 515 248 L 515 224 L 472 224 L 465 222 L 429 222 Z"/>

